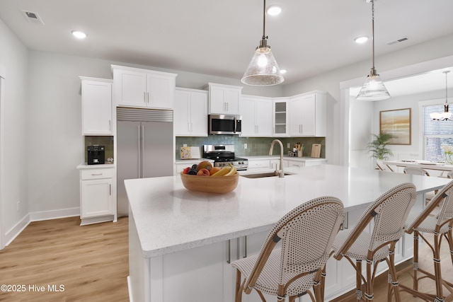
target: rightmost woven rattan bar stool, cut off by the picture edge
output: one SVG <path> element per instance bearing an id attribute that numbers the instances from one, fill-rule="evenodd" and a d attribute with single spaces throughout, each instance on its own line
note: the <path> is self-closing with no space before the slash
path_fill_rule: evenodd
<path id="1" fill-rule="evenodd" d="M 439 210 L 440 208 L 440 210 Z M 438 211 L 434 216 L 433 212 Z M 453 300 L 453 284 L 442 279 L 440 268 L 440 245 L 442 238 L 447 240 L 449 244 L 450 255 L 452 256 L 453 265 L 453 180 L 449 182 L 442 190 L 439 190 L 430 203 L 420 212 L 420 214 L 411 215 L 406 223 L 406 233 L 413 233 L 413 288 L 400 285 L 401 291 L 408 291 L 414 296 L 425 299 L 425 301 L 452 301 Z M 423 233 L 432 233 L 434 243 L 430 244 Z M 434 274 L 426 272 L 418 267 L 418 240 L 423 238 L 425 243 L 432 250 L 432 260 L 434 262 Z M 423 275 L 419 276 L 418 273 Z M 418 281 L 420 279 L 430 278 L 435 280 L 436 294 L 428 294 L 418 291 Z M 449 296 L 445 297 L 442 292 L 442 285 L 449 290 Z M 389 290 L 389 298 L 392 292 Z"/>

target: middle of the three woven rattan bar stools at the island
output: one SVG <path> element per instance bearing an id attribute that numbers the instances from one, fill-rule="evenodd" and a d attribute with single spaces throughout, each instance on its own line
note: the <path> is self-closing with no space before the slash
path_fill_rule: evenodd
<path id="1" fill-rule="evenodd" d="M 371 301 L 374 298 L 374 277 L 379 262 L 384 260 L 389 266 L 389 286 L 398 286 L 395 245 L 403 236 L 404 223 L 416 198 L 415 185 L 408 182 L 397 185 L 372 202 L 352 229 L 340 231 L 336 236 L 331 254 L 336 260 L 345 257 L 354 267 L 357 301 Z M 372 232 L 368 233 L 365 228 L 372 221 Z M 362 261 L 367 262 L 365 276 L 362 274 Z M 399 291 L 396 291 L 395 296 L 396 301 L 401 301 Z"/>

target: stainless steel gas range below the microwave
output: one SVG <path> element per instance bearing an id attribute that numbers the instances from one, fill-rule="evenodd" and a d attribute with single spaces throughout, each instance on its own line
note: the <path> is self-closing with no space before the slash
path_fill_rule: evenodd
<path id="1" fill-rule="evenodd" d="M 214 160 L 214 167 L 233 164 L 239 171 L 247 170 L 247 158 L 234 156 L 234 145 L 204 145 L 203 157 Z"/>

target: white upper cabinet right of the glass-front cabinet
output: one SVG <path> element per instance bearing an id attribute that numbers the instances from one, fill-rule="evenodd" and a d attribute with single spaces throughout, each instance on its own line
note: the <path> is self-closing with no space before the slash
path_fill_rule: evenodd
<path id="1" fill-rule="evenodd" d="M 289 136 L 326 136 L 326 93 L 315 91 L 289 98 Z"/>

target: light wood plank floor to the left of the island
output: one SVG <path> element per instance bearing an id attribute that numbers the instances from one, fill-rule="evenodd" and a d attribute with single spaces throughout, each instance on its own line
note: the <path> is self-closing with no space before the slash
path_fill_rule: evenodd
<path id="1" fill-rule="evenodd" d="M 129 301 L 127 217 L 116 223 L 79 226 L 79 217 L 36 221 L 0 250 L 0 301 Z M 64 286 L 50 292 L 48 286 Z M 29 286 L 45 286 L 31 291 Z"/>

